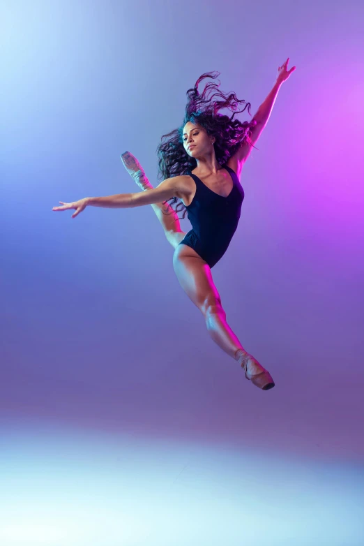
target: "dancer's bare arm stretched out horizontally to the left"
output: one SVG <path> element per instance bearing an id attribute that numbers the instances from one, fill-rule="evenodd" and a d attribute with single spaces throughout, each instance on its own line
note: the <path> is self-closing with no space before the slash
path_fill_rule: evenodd
<path id="1" fill-rule="evenodd" d="M 88 205 L 92 207 L 107 207 L 127 209 L 131 207 L 142 207 L 142 205 L 152 205 L 167 201 L 172 197 L 181 198 L 185 194 L 183 182 L 185 177 L 176 176 L 163 180 L 156 188 L 148 191 L 138 191 L 137 193 L 116 193 L 115 195 L 107 195 L 106 197 L 86 197 L 72 203 L 62 203 L 61 207 L 53 207 L 53 210 L 68 210 L 76 209 L 72 215 L 75 218 L 77 214 L 82 212 Z"/>

